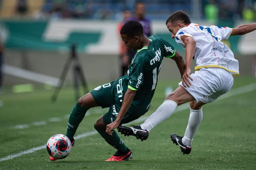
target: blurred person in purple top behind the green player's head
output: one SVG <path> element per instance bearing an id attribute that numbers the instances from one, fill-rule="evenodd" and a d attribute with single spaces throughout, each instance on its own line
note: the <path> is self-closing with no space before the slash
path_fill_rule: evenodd
<path id="1" fill-rule="evenodd" d="M 137 1 L 135 3 L 134 13 L 134 17 L 131 17 L 129 20 L 139 21 L 143 26 L 144 34 L 147 37 L 150 37 L 152 35 L 151 21 L 145 17 L 145 3 L 143 3 L 143 1 Z M 135 53 L 136 51 L 132 51 L 131 49 L 128 50 L 127 55 L 129 57 L 129 63 L 131 63 Z"/>

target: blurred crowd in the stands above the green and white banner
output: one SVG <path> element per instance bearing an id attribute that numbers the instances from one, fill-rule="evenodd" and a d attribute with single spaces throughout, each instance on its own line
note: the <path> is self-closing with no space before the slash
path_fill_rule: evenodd
<path id="1" fill-rule="evenodd" d="M 182 10 L 193 19 L 256 19 L 256 0 L 146 0 L 146 16 L 165 20 L 170 13 Z M 122 12 L 133 11 L 136 0 L 0 0 L 1 17 L 36 19 L 79 18 L 120 20 Z"/>

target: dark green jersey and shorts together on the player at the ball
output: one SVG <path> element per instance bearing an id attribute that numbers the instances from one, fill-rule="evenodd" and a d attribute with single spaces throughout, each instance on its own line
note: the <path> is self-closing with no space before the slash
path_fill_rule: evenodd
<path id="1" fill-rule="evenodd" d="M 121 124 L 138 119 L 148 111 L 157 87 L 157 76 L 163 57 L 169 58 L 175 55 L 172 45 L 162 38 L 151 36 L 149 40 L 151 42 L 148 47 L 141 48 L 134 55 L 127 75 L 90 91 L 99 106 L 109 107 L 108 113 L 103 116 L 106 125 L 118 116 L 128 88 L 136 90 L 136 94 Z"/>

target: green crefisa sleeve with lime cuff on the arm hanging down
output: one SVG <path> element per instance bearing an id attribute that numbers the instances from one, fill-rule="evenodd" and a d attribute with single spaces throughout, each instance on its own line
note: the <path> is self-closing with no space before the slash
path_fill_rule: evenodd
<path id="1" fill-rule="evenodd" d="M 128 88 L 131 90 L 139 90 L 143 84 L 143 69 L 144 65 L 134 62 L 131 65 L 131 73 L 129 73 Z"/>

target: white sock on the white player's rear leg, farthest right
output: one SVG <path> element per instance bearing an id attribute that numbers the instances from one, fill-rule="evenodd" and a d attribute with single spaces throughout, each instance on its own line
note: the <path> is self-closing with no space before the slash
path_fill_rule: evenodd
<path id="1" fill-rule="evenodd" d="M 182 143 L 185 145 L 190 146 L 192 140 L 195 136 L 195 133 L 198 130 L 198 127 L 203 119 L 203 110 L 192 110 L 190 108 L 190 115 L 189 115 L 189 124 L 186 128 L 186 132 L 184 137 L 182 138 Z"/>

